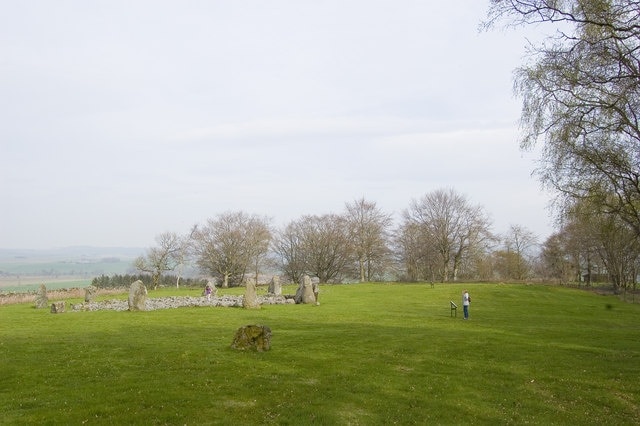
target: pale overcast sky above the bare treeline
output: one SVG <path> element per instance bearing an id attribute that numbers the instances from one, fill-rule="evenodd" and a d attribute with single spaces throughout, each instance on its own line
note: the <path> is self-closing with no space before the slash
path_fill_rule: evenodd
<path id="1" fill-rule="evenodd" d="M 512 89 L 539 34 L 479 32 L 488 1 L 0 4 L 0 248 L 361 198 L 397 219 L 440 189 L 496 233 L 553 232 Z"/>

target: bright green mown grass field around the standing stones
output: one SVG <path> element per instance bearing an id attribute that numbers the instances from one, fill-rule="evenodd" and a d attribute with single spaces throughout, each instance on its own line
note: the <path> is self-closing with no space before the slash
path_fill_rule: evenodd
<path id="1" fill-rule="evenodd" d="M 464 287 L 469 321 L 449 310 Z M 464 287 L 322 286 L 320 306 L 259 310 L 0 306 L 0 422 L 640 423 L 640 306 L 561 287 Z M 176 293 L 199 290 L 150 297 Z M 230 348 L 246 324 L 272 329 L 271 351 Z"/>

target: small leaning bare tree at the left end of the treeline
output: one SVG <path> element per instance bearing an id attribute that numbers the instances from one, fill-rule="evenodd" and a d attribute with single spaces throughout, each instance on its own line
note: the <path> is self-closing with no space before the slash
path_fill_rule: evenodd
<path id="1" fill-rule="evenodd" d="M 156 237 L 156 247 L 147 250 L 145 256 L 134 261 L 136 269 L 151 274 L 153 289 L 157 289 L 162 274 L 173 271 L 182 261 L 184 242 L 174 232 L 165 232 Z"/>

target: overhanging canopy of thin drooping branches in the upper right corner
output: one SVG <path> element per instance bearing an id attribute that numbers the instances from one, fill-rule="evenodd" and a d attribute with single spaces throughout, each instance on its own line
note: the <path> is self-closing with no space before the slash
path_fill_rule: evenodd
<path id="1" fill-rule="evenodd" d="M 516 70 L 521 146 L 542 143 L 537 173 L 564 205 L 590 199 L 638 235 L 639 11 L 630 0 L 492 0 L 486 22 L 554 29 Z"/>

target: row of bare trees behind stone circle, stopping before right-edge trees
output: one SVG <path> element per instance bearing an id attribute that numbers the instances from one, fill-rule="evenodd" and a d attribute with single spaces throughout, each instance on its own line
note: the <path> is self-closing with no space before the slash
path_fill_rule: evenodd
<path id="1" fill-rule="evenodd" d="M 189 267 L 223 288 L 258 282 L 265 271 L 290 283 L 304 275 L 322 283 L 528 279 L 536 237 L 522 227 L 505 236 L 490 228 L 484 209 L 452 189 L 414 200 L 399 223 L 364 198 L 340 213 L 305 215 L 279 227 L 232 211 L 187 235 L 158 235 L 134 265 L 151 274 L 153 288 L 166 273 Z"/>

